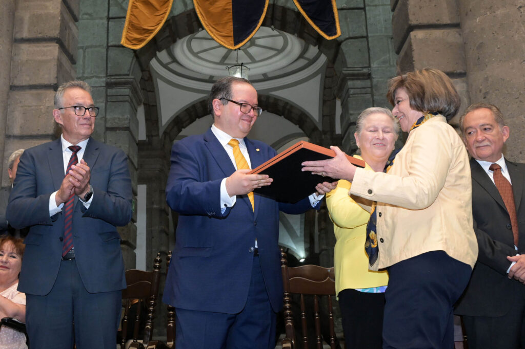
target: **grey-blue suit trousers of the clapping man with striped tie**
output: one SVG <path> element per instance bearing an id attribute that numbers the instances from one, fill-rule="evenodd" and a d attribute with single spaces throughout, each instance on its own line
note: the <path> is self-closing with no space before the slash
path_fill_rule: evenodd
<path id="1" fill-rule="evenodd" d="M 31 349 L 115 349 L 121 308 L 121 290 L 89 293 L 76 261 L 62 260 L 48 295 L 26 294 Z"/>

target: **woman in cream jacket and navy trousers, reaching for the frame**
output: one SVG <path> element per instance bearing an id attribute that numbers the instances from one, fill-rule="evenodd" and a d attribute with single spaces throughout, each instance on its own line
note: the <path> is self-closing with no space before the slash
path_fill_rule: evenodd
<path id="1" fill-rule="evenodd" d="M 408 133 L 388 173 L 356 168 L 337 147 L 335 158 L 306 161 L 303 170 L 351 181 L 350 194 L 377 202 L 379 253 L 372 250 L 370 264 L 373 270 L 387 268 L 390 277 L 383 347 L 448 348 L 454 341 L 453 304 L 478 253 L 468 155 L 447 124 L 460 99 L 436 69 L 391 79 L 387 97 Z"/>

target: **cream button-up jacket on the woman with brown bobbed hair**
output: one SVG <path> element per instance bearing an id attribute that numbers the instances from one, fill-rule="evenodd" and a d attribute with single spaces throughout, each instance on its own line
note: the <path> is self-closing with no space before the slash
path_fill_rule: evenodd
<path id="1" fill-rule="evenodd" d="M 371 269 L 436 250 L 474 267 L 471 186 L 465 145 L 442 115 L 408 134 L 388 173 L 358 168 L 350 193 L 377 201 L 379 258 Z"/>

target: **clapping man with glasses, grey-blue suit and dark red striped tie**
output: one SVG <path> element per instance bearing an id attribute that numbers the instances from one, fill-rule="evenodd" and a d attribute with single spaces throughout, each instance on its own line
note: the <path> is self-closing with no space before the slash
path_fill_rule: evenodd
<path id="1" fill-rule="evenodd" d="M 126 287 L 116 226 L 132 215 L 128 161 L 91 138 L 98 107 L 82 81 L 61 85 L 60 139 L 27 149 L 7 220 L 29 226 L 18 290 L 31 348 L 111 348 Z"/>

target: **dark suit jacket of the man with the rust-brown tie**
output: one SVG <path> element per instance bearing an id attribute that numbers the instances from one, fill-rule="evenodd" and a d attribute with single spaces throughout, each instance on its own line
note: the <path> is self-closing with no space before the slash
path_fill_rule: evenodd
<path id="1" fill-rule="evenodd" d="M 478 240 L 478 260 L 470 282 L 456 304 L 456 313 L 478 317 L 498 317 L 508 312 L 515 297 L 522 297 L 523 284 L 509 279 L 507 256 L 525 253 L 525 165 L 505 160 L 509 169 L 518 216 L 518 251 L 510 217 L 501 195 L 488 174 L 470 159 L 472 175 L 472 216 Z"/>

